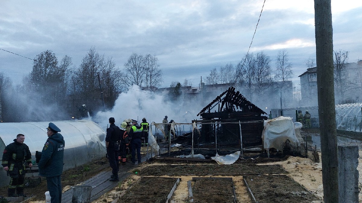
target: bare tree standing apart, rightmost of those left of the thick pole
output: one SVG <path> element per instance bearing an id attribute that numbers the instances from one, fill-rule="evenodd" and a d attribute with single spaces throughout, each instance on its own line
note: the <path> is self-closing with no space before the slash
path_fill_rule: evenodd
<path id="1" fill-rule="evenodd" d="M 276 74 L 275 79 L 277 81 L 287 81 L 293 77 L 292 64 L 289 62 L 288 52 L 283 49 L 278 52 L 277 60 L 275 61 Z"/>

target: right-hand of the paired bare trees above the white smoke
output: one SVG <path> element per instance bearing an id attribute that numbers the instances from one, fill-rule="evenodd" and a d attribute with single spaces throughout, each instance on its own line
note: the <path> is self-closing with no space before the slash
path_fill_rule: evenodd
<path id="1" fill-rule="evenodd" d="M 157 87 L 163 81 L 162 70 L 155 55 L 147 54 L 144 57 L 144 68 L 146 69 L 146 87 Z"/>

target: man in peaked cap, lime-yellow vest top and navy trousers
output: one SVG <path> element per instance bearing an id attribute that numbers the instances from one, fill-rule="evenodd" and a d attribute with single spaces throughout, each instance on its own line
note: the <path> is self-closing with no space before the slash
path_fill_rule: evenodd
<path id="1" fill-rule="evenodd" d="M 131 142 L 131 155 L 132 155 L 132 164 L 137 165 L 141 163 L 141 143 L 144 139 L 143 137 L 143 128 L 140 126 L 136 120 L 132 119 L 132 127 L 128 135 Z M 137 151 L 137 161 L 136 162 L 136 151 Z"/>

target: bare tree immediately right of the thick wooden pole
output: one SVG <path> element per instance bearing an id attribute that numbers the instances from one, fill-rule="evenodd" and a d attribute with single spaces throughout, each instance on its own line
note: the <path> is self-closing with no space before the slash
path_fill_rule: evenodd
<path id="1" fill-rule="evenodd" d="M 347 78 L 345 75 L 343 75 L 346 64 L 348 62 L 348 51 L 339 50 L 334 51 L 334 83 L 335 83 L 335 91 L 337 97 L 337 103 L 342 103 L 342 100 L 344 99 L 344 93 L 346 89 L 354 88 L 353 84 L 348 84 Z"/>

